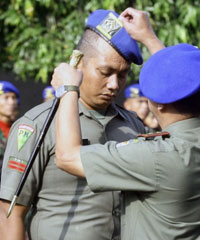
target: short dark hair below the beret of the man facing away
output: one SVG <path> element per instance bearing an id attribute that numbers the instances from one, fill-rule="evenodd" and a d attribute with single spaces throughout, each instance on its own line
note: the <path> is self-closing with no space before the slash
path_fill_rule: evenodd
<path id="1" fill-rule="evenodd" d="M 200 115 L 200 90 L 195 94 L 172 103 L 172 106 L 182 114 Z"/>

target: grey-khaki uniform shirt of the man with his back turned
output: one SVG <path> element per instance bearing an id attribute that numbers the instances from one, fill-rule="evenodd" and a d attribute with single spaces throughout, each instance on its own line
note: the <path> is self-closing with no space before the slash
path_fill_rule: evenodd
<path id="1" fill-rule="evenodd" d="M 200 118 L 165 131 L 81 148 L 90 188 L 124 191 L 122 240 L 200 239 Z"/>

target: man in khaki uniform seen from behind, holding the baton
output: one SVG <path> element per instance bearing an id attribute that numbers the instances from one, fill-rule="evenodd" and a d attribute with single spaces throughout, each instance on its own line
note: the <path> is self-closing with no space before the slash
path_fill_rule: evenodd
<path id="1" fill-rule="evenodd" d="M 122 16 L 136 38 L 131 28 L 135 14 L 127 9 Z M 123 240 L 200 239 L 199 75 L 200 50 L 190 44 L 151 56 L 141 70 L 140 86 L 162 132 L 121 143 L 82 146 L 78 94 L 71 91 L 61 98 L 57 166 L 86 177 L 94 192 L 123 191 Z M 79 86 L 81 78 L 80 71 L 60 65 L 52 84 Z"/>

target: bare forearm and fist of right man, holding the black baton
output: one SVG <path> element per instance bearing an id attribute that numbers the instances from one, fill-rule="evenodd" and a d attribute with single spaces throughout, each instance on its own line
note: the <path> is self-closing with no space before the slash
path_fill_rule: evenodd
<path id="1" fill-rule="evenodd" d="M 63 85 L 79 87 L 81 80 L 80 71 L 61 63 L 54 70 L 51 84 L 55 89 Z M 70 91 L 61 97 L 56 117 L 56 165 L 71 174 L 84 177 L 80 160 L 81 143 L 78 94 Z"/>

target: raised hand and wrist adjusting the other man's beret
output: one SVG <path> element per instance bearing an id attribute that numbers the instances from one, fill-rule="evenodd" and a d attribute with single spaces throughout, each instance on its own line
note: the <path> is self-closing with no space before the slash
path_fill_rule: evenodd
<path id="1" fill-rule="evenodd" d="M 131 37 L 144 44 L 151 54 L 165 47 L 154 33 L 146 12 L 127 8 L 121 13 L 120 20 Z"/>

